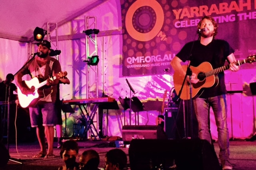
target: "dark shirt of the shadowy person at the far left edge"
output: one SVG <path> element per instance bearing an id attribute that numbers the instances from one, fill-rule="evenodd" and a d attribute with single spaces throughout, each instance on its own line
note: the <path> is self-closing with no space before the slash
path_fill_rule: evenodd
<path id="1" fill-rule="evenodd" d="M 10 83 L 10 101 L 13 101 L 16 99 L 16 97 L 13 95 L 13 91 L 17 89 L 16 85 L 14 83 Z M 0 101 L 8 101 L 8 87 L 4 84 L 4 81 L 0 83 Z"/>

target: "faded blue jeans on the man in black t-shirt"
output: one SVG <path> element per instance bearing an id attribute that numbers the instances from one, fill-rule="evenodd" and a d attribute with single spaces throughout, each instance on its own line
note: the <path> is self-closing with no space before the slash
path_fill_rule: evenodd
<path id="1" fill-rule="evenodd" d="M 227 125 L 226 95 L 193 99 L 196 118 L 198 120 L 199 138 L 206 139 L 212 144 L 210 134 L 210 107 L 212 107 L 218 131 L 219 157 L 222 164 L 229 157 L 229 136 Z"/>

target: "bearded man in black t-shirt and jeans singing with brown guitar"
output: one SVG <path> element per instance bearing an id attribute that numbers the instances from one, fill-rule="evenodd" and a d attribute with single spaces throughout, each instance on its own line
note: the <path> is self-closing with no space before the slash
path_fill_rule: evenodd
<path id="1" fill-rule="evenodd" d="M 233 54 L 234 49 L 230 47 L 228 42 L 224 40 L 214 39 L 217 35 L 218 25 L 214 18 L 210 16 L 204 16 L 198 23 L 199 38 L 197 41 L 189 42 L 184 45 L 181 51 L 171 61 L 172 68 L 175 73 L 178 73 L 182 80 L 186 75 L 186 68 L 181 65 L 181 62 L 188 61 L 194 68 L 200 69 L 200 64 L 204 62 L 210 63 L 210 68 L 202 67 L 202 69 L 216 69 L 222 67 L 224 62 L 227 60 L 230 71 L 238 71 L 240 63 L 236 63 L 236 58 Z M 212 66 L 212 68 L 211 68 Z M 191 68 L 192 69 L 192 68 Z M 198 69 L 192 69 L 191 83 L 192 86 L 198 89 L 201 84 L 206 84 L 203 91 L 200 91 L 199 97 L 193 97 L 192 101 L 198 120 L 199 138 L 206 139 L 212 144 L 212 137 L 210 134 L 210 107 L 214 112 L 216 126 L 218 130 L 218 144 L 220 147 L 219 157 L 223 170 L 231 170 L 232 164 L 229 162 L 229 135 L 227 125 L 227 104 L 226 104 L 226 86 L 224 81 L 224 72 L 213 75 L 216 79 L 207 77 L 207 75 L 201 76 L 202 71 Z M 198 72 L 198 73 L 197 73 Z M 213 81 L 207 86 L 207 81 Z M 187 76 L 185 85 L 190 82 L 189 76 Z M 201 83 L 201 84 L 200 84 Z M 175 87 L 174 79 L 174 87 Z M 177 85 L 178 86 L 178 85 Z M 180 89 L 176 88 L 177 94 Z M 194 89 L 192 89 L 194 90 Z M 184 87 L 182 90 L 184 93 L 189 90 Z M 198 92 L 199 93 L 199 92 Z M 184 95 L 186 96 L 188 95 Z M 182 97 L 180 97 L 182 99 Z M 189 99 L 189 98 L 186 98 Z"/>

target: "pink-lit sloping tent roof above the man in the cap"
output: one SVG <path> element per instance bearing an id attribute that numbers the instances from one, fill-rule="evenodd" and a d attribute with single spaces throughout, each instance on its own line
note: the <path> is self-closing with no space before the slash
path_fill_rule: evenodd
<path id="1" fill-rule="evenodd" d="M 62 26 L 106 0 L 1 0 L 0 38 L 29 42 L 34 29 L 46 22 Z"/>

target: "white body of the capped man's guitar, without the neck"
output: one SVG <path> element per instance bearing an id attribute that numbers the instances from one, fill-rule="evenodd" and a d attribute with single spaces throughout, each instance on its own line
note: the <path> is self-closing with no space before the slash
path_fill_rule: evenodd
<path id="1" fill-rule="evenodd" d="M 35 91 L 33 94 L 24 95 L 18 88 L 17 92 L 18 92 L 20 106 L 23 108 L 32 107 L 32 106 L 36 105 L 36 103 L 39 100 L 38 99 L 39 94 L 37 91 L 38 89 L 36 87 L 38 87 L 38 85 L 40 83 L 39 83 L 37 77 L 34 77 L 33 79 L 28 80 L 28 81 L 25 80 L 25 81 L 23 81 L 23 83 L 25 83 L 30 89 L 35 87 Z"/>

